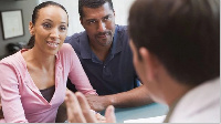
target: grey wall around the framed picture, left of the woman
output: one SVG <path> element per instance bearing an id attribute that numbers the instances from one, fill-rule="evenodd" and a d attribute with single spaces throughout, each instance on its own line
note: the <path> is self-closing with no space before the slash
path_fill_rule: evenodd
<path id="1" fill-rule="evenodd" d="M 29 22 L 34 7 L 39 4 L 39 0 L 0 0 L 0 11 L 22 10 L 24 35 L 3 40 L 2 25 L 0 24 L 0 56 L 7 54 L 6 45 L 11 42 L 28 42 L 30 39 Z M 1 23 L 1 20 L 0 20 Z"/>

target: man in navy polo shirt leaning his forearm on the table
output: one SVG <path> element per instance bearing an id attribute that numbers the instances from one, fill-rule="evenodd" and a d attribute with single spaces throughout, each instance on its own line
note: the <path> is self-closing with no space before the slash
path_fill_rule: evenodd
<path id="1" fill-rule="evenodd" d="M 115 24 L 112 0 L 78 0 L 78 13 L 85 31 L 65 42 L 74 48 L 99 95 L 87 96 L 92 108 L 103 111 L 110 104 L 129 107 L 150 103 L 149 96 L 143 95 L 148 93 L 147 86 L 138 86 L 127 29 Z M 67 87 L 75 91 L 70 82 Z"/>

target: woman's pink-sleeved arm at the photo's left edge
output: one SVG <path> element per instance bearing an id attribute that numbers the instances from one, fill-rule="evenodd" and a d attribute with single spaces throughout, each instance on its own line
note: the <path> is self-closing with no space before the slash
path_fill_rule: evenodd
<path id="1" fill-rule="evenodd" d="M 4 121 L 7 123 L 25 123 L 19 92 L 19 78 L 13 66 L 0 63 L 0 94 Z"/>

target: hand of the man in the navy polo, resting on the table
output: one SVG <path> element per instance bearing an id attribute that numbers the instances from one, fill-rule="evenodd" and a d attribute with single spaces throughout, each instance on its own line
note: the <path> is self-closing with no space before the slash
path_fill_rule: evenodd
<path id="1" fill-rule="evenodd" d="M 92 110 L 101 112 L 104 111 L 108 105 L 110 105 L 110 101 L 108 95 L 98 96 L 98 95 L 85 95 L 86 100 L 92 107 Z"/>

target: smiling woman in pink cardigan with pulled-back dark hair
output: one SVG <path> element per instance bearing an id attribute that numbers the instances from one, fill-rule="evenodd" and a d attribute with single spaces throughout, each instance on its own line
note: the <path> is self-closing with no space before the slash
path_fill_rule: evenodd
<path id="1" fill-rule="evenodd" d="M 29 24 L 29 49 L 0 61 L 7 123 L 54 123 L 64 102 L 67 76 L 83 94 L 96 94 L 74 50 L 63 44 L 67 27 L 64 7 L 52 1 L 39 4 Z"/>

